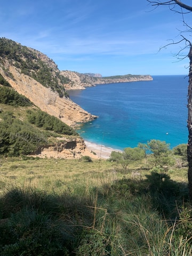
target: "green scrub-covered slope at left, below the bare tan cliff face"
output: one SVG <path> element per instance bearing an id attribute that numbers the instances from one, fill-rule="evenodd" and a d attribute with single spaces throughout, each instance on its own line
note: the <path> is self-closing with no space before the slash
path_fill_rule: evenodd
<path id="1" fill-rule="evenodd" d="M 12 92 L 12 90 L 11 90 Z M 14 92 L 14 91 L 13 91 Z M 0 88 L 1 94 L 1 88 Z M 13 94 L 15 95 L 15 94 Z M 0 111 L 0 155 L 21 156 L 34 153 L 39 147 L 51 144 L 50 138 L 64 135 L 77 135 L 73 128 L 41 110 L 23 109 L 21 116 L 18 105 L 30 104 L 25 98 L 11 97 L 3 99 L 10 105 L 17 106 L 12 110 Z M 5 106 L 5 105 L 2 105 Z M 7 107 L 6 107 L 7 108 Z M 26 114 L 25 114 L 26 113 Z M 27 117 L 25 117 L 25 115 Z"/>

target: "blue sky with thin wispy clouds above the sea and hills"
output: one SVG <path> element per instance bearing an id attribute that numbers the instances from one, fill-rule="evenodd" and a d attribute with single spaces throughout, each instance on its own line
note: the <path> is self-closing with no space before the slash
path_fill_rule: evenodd
<path id="1" fill-rule="evenodd" d="M 190 26 L 191 15 L 185 15 Z M 60 70 L 103 76 L 188 74 L 188 59 L 174 56 L 182 45 L 159 51 L 185 29 L 180 14 L 167 6 L 153 10 L 147 0 L 10 0 L 0 6 L 0 37 L 45 53 Z"/>

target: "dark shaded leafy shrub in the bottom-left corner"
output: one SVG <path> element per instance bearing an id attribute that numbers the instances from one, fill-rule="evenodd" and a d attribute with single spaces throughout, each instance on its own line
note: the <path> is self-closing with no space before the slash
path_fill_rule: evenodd
<path id="1" fill-rule="evenodd" d="M 3 231 L 0 235 L 1 255 L 69 255 L 65 237 L 49 215 L 34 210 L 21 211 L 12 215 L 7 225 L 0 227 L 0 230 Z"/>

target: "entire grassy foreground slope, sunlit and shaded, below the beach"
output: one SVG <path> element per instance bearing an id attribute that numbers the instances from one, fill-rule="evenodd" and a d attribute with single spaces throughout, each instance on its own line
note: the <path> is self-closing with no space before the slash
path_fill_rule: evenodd
<path id="1" fill-rule="evenodd" d="M 117 154 L 142 152 L 126 171 L 87 157 L 1 158 L 0 254 L 190 255 L 192 211 L 178 147 L 167 153 L 174 164 L 166 171 L 150 167 L 154 154 L 145 158 L 139 147 Z"/>

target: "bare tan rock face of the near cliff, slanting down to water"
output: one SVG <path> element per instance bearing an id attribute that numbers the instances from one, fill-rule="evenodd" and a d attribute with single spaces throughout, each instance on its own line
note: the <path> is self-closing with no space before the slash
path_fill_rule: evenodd
<path id="1" fill-rule="evenodd" d="M 85 123 L 96 118 L 87 113 L 69 98 L 60 98 L 57 92 L 44 87 L 33 78 L 21 74 L 14 66 L 9 66 L 12 78 L 6 77 L 4 70 L 0 67 L 0 73 L 20 94 L 25 95 L 41 110 L 56 116 L 68 125 Z"/>

